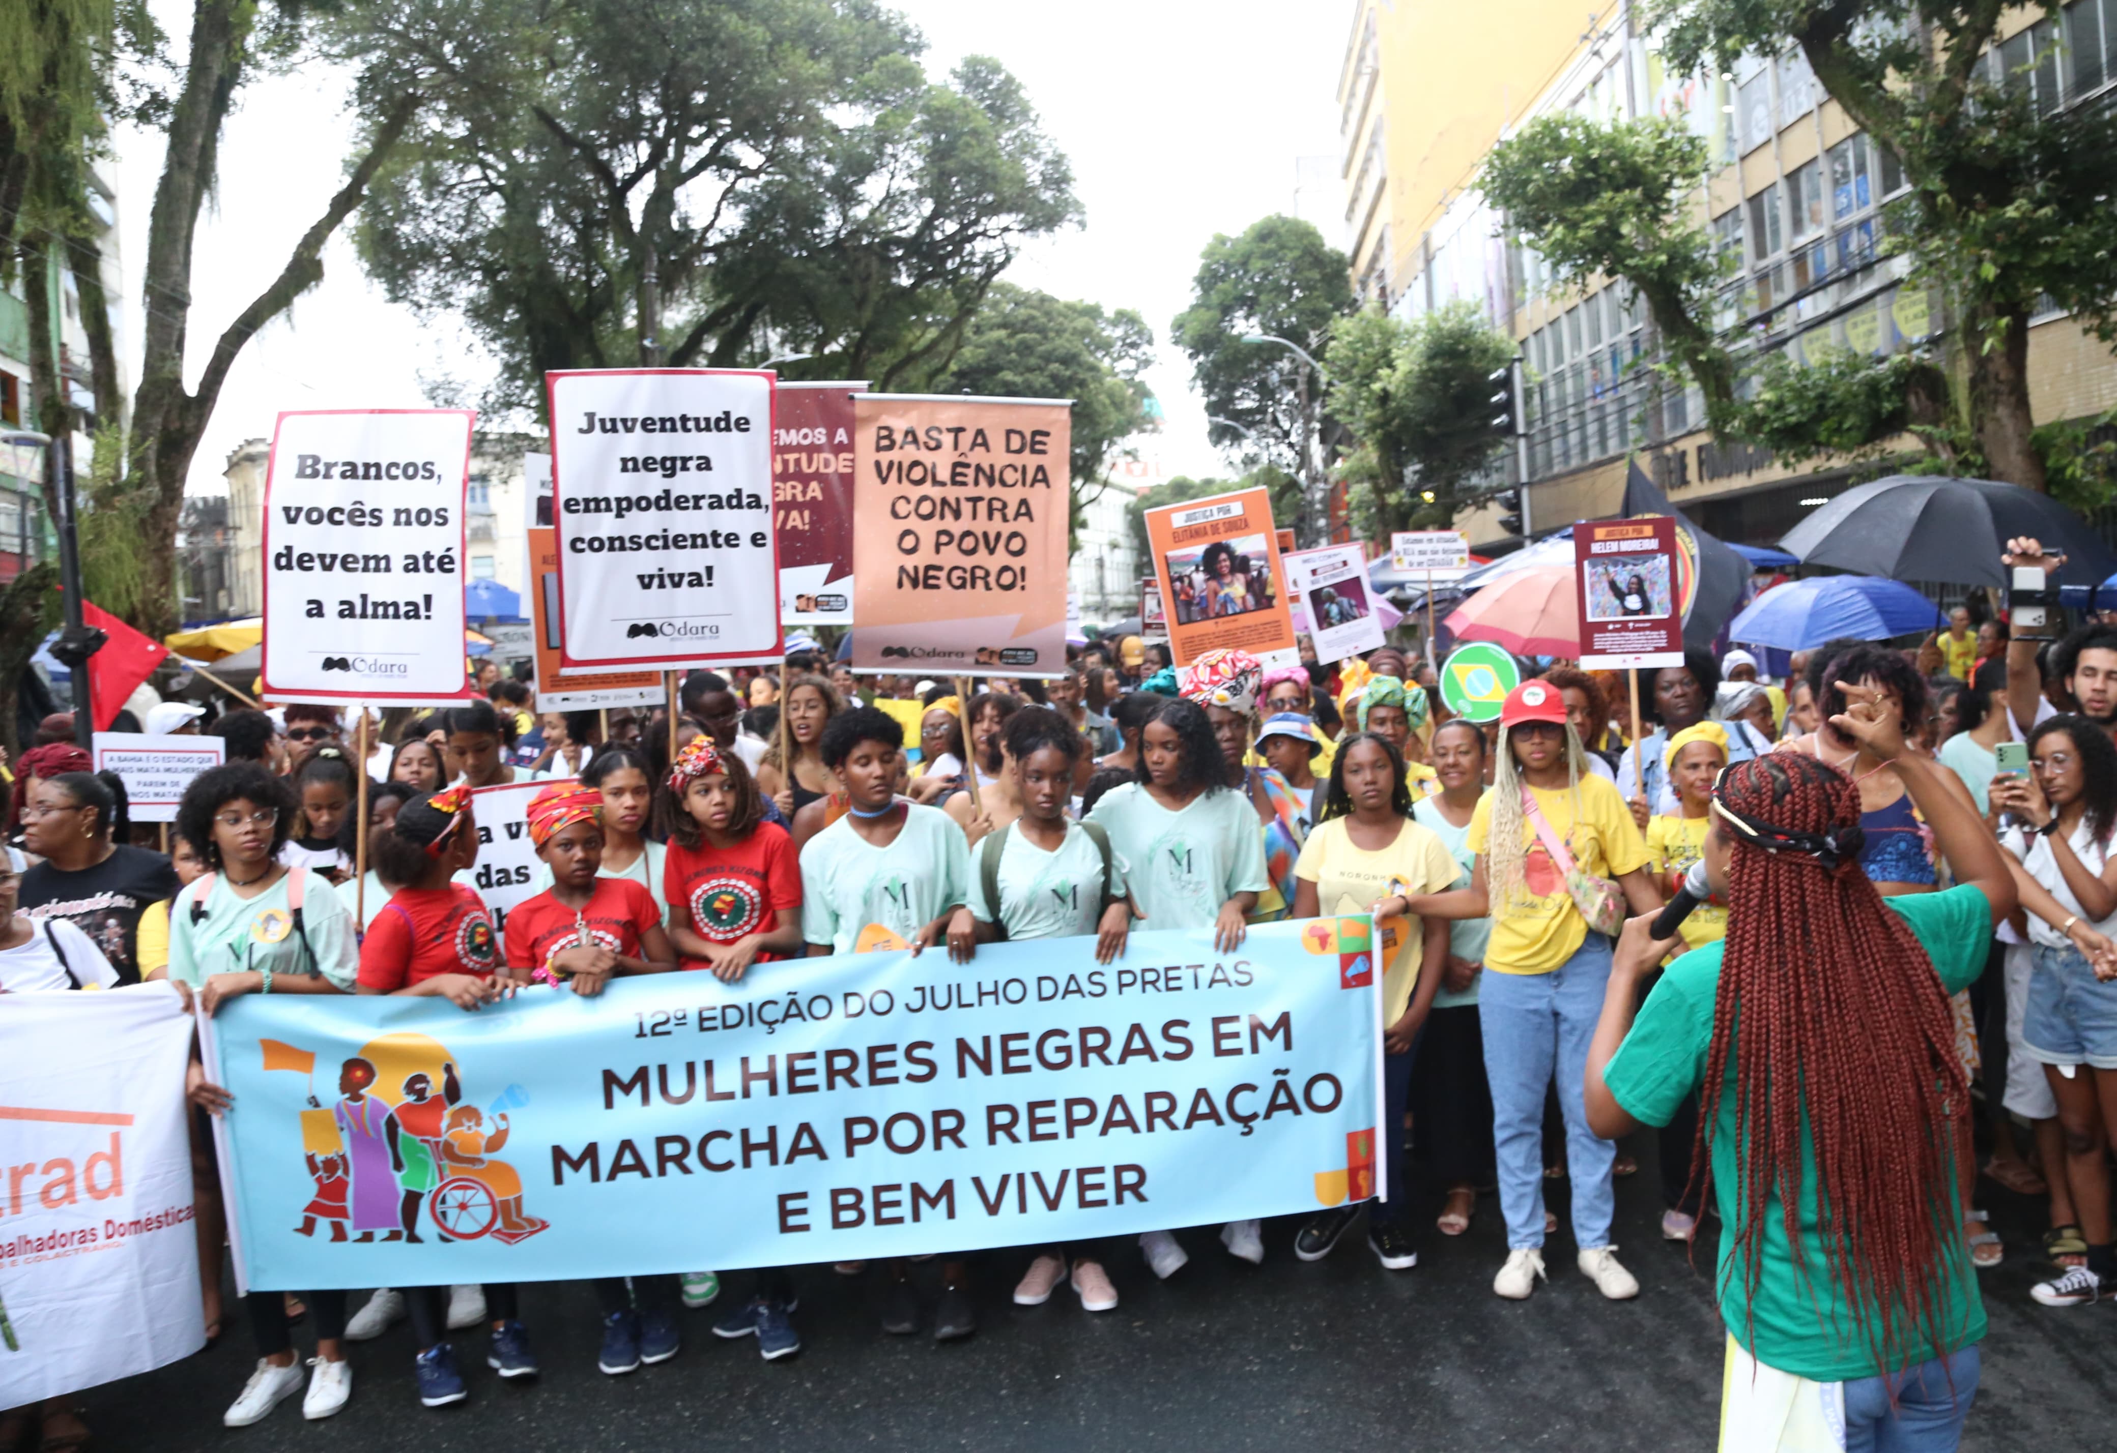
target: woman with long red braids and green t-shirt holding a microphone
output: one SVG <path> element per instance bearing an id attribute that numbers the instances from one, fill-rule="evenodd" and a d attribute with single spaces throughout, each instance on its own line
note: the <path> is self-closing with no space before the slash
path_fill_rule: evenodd
<path id="1" fill-rule="evenodd" d="M 1977 1392 L 1986 1316 L 1952 1163 L 1971 1106 L 1948 996 L 1984 971 L 2015 888 L 1884 692 L 1838 692 L 1831 725 L 1903 783 L 1958 886 L 1884 899 L 1861 871 L 1850 776 L 1797 753 L 1740 761 L 1704 844 L 1727 939 L 1670 964 L 1634 1022 L 1668 939 L 1630 920 L 1588 1053 L 1598 1136 L 1664 1125 L 1700 1093 L 1723 1451 L 1954 1449 Z"/>

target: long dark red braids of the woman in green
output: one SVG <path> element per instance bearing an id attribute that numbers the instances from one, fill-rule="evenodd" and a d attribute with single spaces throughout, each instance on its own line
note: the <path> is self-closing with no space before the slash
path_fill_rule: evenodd
<path id="1" fill-rule="evenodd" d="M 1948 994 L 1861 871 L 1850 776 L 1806 753 L 1772 753 L 1727 768 L 1715 799 L 1761 835 L 1713 825 L 1730 844 L 1730 912 L 1694 1180 L 1700 1197 L 1711 1191 L 1711 1127 L 1725 1110 L 1740 1182 L 1727 1275 L 1742 1277 L 1755 1305 L 1778 1197 L 1795 1280 L 1808 1282 L 1819 1269 L 1806 1265 L 1799 1231 L 1806 1119 L 1821 1271 L 1861 1309 L 1876 1364 L 1903 1366 L 1948 1330 L 1941 1267 L 1958 1254 L 1950 1157 L 1969 1083 Z M 1821 1305 L 1812 1282 L 1804 1290 Z"/>

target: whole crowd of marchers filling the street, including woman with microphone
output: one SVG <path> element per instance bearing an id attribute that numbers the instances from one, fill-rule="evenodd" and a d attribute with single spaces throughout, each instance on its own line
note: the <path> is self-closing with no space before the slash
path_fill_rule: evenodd
<path id="1" fill-rule="evenodd" d="M 2034 541 L 2013 552 L 2043 560 Z M 167 854 L 61 730 L 15 764 L 0 990 L 165 977 L 207 1013 L 256 992 L 476 1009 L 523 983 L 735 983 L 889 945 L 970 962 L 1001 939 L 1080 937 L 1109 962 L 1139 922 L 1230 952 L 1257 922 L 1374 914 L 1401 924 L 1382 981 L 1391 1199 L 1308 1218 L 1293 1256 L 1363 1225 L 1380 1267 L 1406 1271 L 1497 1191 L 1492 1290 L 1528 1299 L 1562 1178 L 1575 1269 L 1636 1296 L 1611 1218 L 1639 1165 L 1617 1140 L 1653 1127 L 1662 1235 L 1719 1220 L 1742 1368 L 1727 1417 L 1791 1430 L 1823 1387 L 1844 1447 L 1882 1426 L 1929 1438 L 1886 1447 L 1954 1447 L 1984 1337 L 1975 1271 L 2009 1250 L 1977 1208 L 1973 1091 L 1984 1174 L 2047 1199 L 2037 1301 L 2087 1305 L 2117 1280 L 2117 626 L 1992 637 L 1998 651 L 1962 649 L 1965 618 L 1918 651 L 1833 641 L 1774 679 L 1749 651 L 1691 649 L 1643 673 L 1636 721 L 1617 677 L 1564 662 L 1524 662 L 1497 719 L 1452 719 L 1431 666 L 1395 647 L 1274 670 L 1211 651 L 1177 673 L 1126 639 L 967 702 L 800 649 L 783 670 L 690 673 L 673 732 L 661 711 L 533 717 L 531 687 L 493 673 L 483 700 L 358 728 L 328 706 L 218 715 L 203 730 L 227 764 L 186 791 Z M 201 730 L 195 709 L 165 725 Z M 502 948 L 466 886 L 468 789 L 512 780 L 548 780 L 529 810 L 546 869 Z M 1700 903 L 1655 937 L 1675 897 Z M 267 916 L 294 933 L 254 933 Z M 453 1083 L 385 1110 L 347 1074 L 354 1199 L 315 1210 L 362 1239 L 415 1237 L 419 1197 L 485 1167 L 504 1121 L 464 1112 Z M 188 1093 L 218 1337 L 205 1115 L 227 1098 L 197 1062 Z M 375 1155 L 390 1174 L 360 1174 Z M 493 1191 L 523 1214 L 519 1182 Z M 1219 1242 L 1255 1263 L 1264 1231 L 1238 1220 Z M 1065 1286 L 1109 1311 L 1116 1258 L 1171 1277 L 1192 1250 L 1179 1229 L 1023 1248 L 1012 1296 Z M 838 1271 L 885 1280 L 887 1332 L 976 1328 L 961 1258 L 931 1307 L 902 1261 Z M 610 1375 L 677 1356 L 682 1309 L 716 1301 L 713 1335 L 768 1360 L 800 1349 L 785 1269 L 726 1299 L 703 1269 L 597 1296 Z M 296 1394 L 307 1417 L 339 1411 L 347 1345 L 404 1316 L 426 1406 L 466 1398 L 451 1332 L 485 1328 L 500 1377 L 538 1371 L 514 1286 L 381 1288 L 358 1309 L 343 1290 L 254 1292 L 246 1313 L 260 1360 L 229 1426 Z M 296 1313 L 313 1320 L 309 1371 Z M 11 1417 L 40 1419 L 44 1447 L 87 1432 L 64 1400 Z"/>

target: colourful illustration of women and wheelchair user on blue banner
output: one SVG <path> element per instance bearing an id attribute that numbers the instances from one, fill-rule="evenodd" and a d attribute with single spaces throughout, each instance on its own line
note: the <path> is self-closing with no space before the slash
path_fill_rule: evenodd
<path id="1" fill-rule="evenodd" d="M 485 952 L 491 924 L 483 918 Z M 472 941 L 457 931 L 459 950 Z M 315 1051 L 275 1038 L 258 1041 L 267 1070 L 307 1081 L 301 1115 L 301 1159 L 315 1195 L 303 1208 L 298 1235 L 330 1227 L 330 1242 L 525 1242 L 550 1222 L 523 1210 L 523 1182 L 502 1159 L 510 1110 L 529 1104 L 521 1085 L 502 1087 L 489 1104 L 474 1100 L 445 1045 L 426 1034 L 383 1034 L 339 1062 L 337 1100 L 315 1096 Z M 328 1066 L 326 1066 L 328 1068 Z"/>

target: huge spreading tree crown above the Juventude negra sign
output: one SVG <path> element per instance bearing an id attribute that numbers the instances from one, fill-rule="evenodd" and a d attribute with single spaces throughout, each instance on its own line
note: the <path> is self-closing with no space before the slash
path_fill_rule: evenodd
<path id="1" fill-rule="evenodd" d="M 929 82 L 866 0 L 396 0 L 373 36 L 449 87 L 362 258 L 470 324 L 489 408 L 633 362 L 931 379 L 1020 239 L 1078 214 L 1014 78 Z"/>

